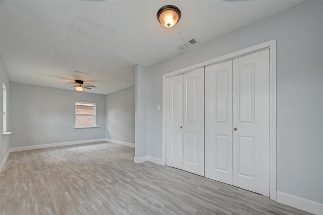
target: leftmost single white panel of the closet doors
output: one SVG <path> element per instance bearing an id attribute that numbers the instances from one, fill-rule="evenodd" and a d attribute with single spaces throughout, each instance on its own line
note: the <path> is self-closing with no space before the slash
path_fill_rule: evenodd
<path id="1" fill-rule="evenodd" d="M 167 165 L 183 169 L 183 75 L 167 79 Z"/>

